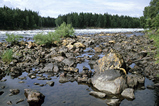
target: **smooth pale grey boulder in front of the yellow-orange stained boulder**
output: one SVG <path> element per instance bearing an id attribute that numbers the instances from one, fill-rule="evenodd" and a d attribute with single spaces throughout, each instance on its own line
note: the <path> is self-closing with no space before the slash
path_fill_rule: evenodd
<path id="1" fill-rule="evenodd" d="M 96 89 L 110 94 L 120 94 L 127 87 L 126 79 L 117 70 L 95 74 L 91 80 Z"/>

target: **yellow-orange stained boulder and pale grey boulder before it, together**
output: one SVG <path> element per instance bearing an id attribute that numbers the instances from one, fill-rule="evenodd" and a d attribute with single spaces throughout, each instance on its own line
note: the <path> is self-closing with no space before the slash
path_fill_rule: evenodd
<path id="1" fill-rule="evenodd" d="M 120 94 L 126 87 L 126 65 L 120 54 L 109 53 L 98 60 L 95 75 L 92 77 L 93 86 L 99 91 Z"/>

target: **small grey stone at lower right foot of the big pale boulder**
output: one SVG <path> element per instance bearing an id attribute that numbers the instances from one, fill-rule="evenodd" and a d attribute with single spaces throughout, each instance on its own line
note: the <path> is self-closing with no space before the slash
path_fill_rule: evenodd
<path id="1" fill-rule="evenodd" d="M 135 95 L 134 95 L 134 89 L 132 88 L 127 88 L 125 89 L 121 95 L 125 98 L 128 98 L 128 99 L 135 99 Z"/>

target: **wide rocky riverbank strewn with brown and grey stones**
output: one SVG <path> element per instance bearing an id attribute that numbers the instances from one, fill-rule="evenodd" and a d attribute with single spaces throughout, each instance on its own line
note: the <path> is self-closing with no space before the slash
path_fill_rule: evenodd
<path id="1" fill-rule="evenodd" d="M 26 77 L 19 76 L 27 72 L 27 77 L 46 80 L 46 84 L 53 86 L 54 82 L 50 81 L 50 77 L 54 75 L 59 77 L 60 83 L 77 81 L 96 88 L 97 90 L 90 92 L 96 97 L 107 98 L 106 95 L 115 95 L 106 101 L 108 105 L 120 104 L 123 98 L 133 100 L 134 90 L 137 87 L 145 89 L 145 77 L 155 81 L 155 86 L 158 86 L 159 67 L 155 63 L 154 55 L 157 51 L 153 46 L 153 40 L 145 36 L 127 36 L 127 34 L 131 35 L 131 33 L 82 35 L 63 39 L 59 44 L 50 47 L 24 41 L 18 45 L 0 43 L 1 54 L 9 48 L 14 52 L 11 63 L 6 64 L 0 60 L 0 78 L 2 79 L 8 72 L 13 78 L 25 79 Z M 82 70 L 78 69 L 77 65 L 86 60 L 91 69 L 86 66 L 83 66 Z M 50 77 L 44 76 L 44 73 L 51 73 Z M 3 90 L 0 92 L 3 96 Z M 35 94 L 42 95 L 36 92 Z M 122 99 L 117 95 L 121 95 Z M 43 103 L 43 100 L 40 103 Z"/>

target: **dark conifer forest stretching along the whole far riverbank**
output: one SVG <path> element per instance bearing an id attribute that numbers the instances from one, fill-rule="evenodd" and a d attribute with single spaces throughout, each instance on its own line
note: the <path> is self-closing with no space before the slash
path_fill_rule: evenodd
<path id="1" fill-rule="evenodd" d="M 118 16 L 93 13 L 68 13 L 57 18 L 41 17 L 32 10 L 12 9 L 7 6 L 0 8 L 0 29 L 36 29 L 56 27 L 63 22 L 75 28 L 139 28 L 140 19 L 130 16 Z"/>

